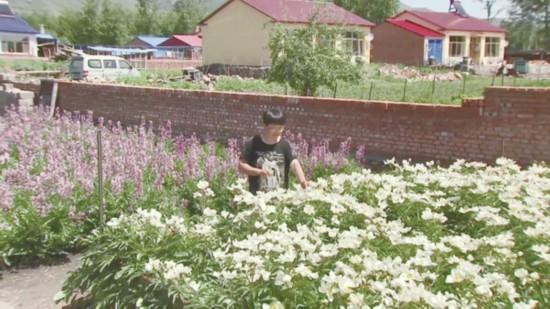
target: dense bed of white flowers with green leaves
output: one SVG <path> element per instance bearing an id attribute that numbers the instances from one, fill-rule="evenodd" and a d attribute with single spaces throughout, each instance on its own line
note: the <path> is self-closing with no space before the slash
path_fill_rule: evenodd
<path id="1" fill-rule="evenodd" d="M 306 190 L 139 209 L 87 238 L 59 296 L 99 308 L 544 308 L 550 169 L 394 163 Z M 215 191 L 215 190 L 214 190 Z M 217 194 L 214 192 L 214 194 Z"/>

